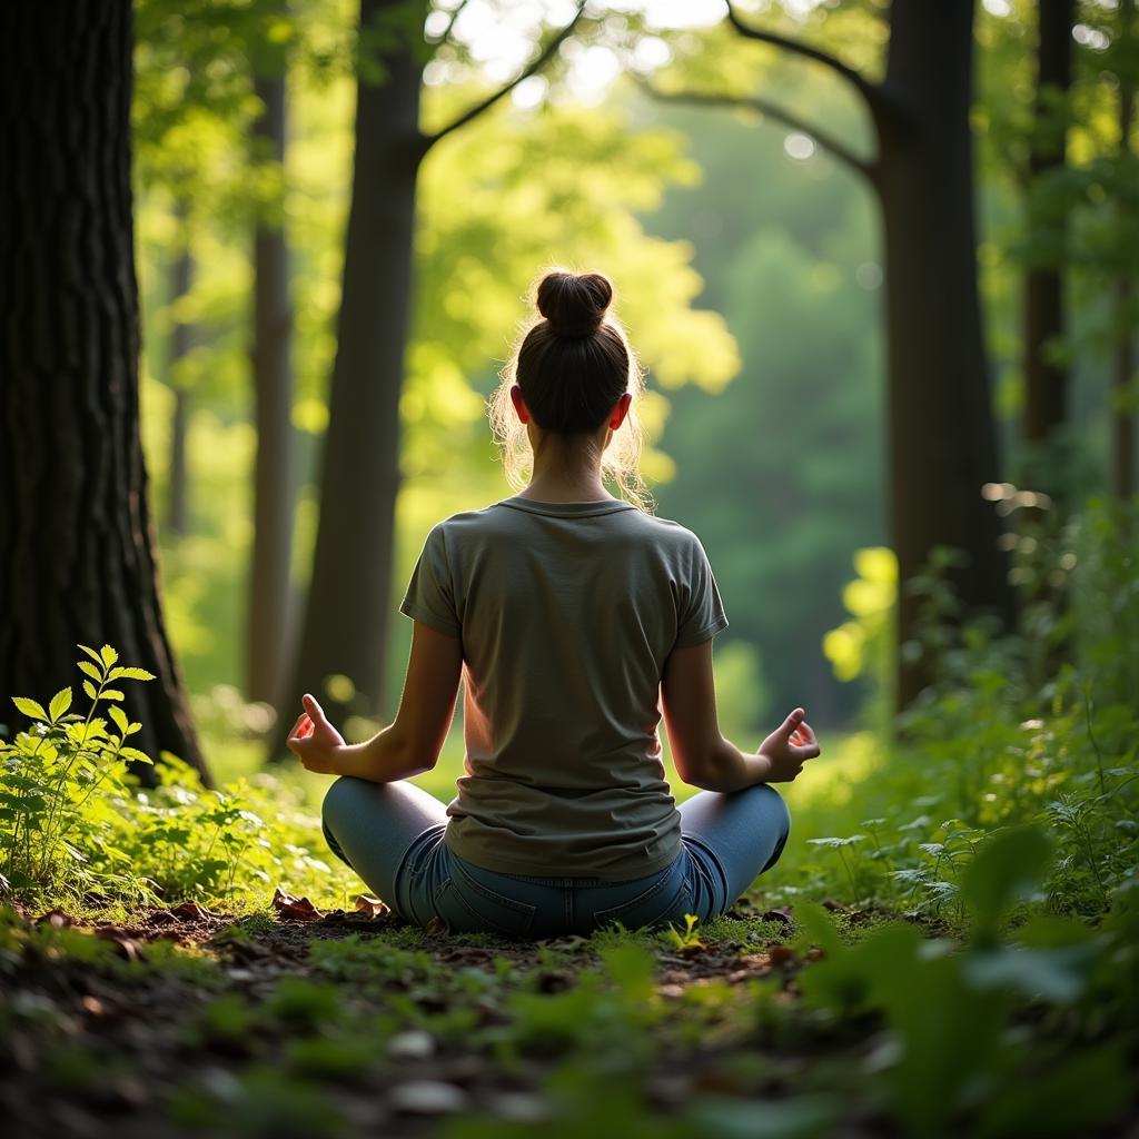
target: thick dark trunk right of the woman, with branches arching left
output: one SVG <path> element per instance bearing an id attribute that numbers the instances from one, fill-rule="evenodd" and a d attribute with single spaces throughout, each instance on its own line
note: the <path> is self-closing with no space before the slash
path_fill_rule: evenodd
<path id="1" fill-rule="evenodd" d="M 894 0 L 877 115 L 876 182 L 885 241 L 890 517 L 898 554 L 899 642 L 920 599 L 904 588 L 939 546 L 964 550 L 951 577 L 970 611 L 1014 612 L 984 483 L 1000 478 L 977 293 L 974 223 L 973 2 Z M 929 662 L 900 654 L 904 707 Z"/>

